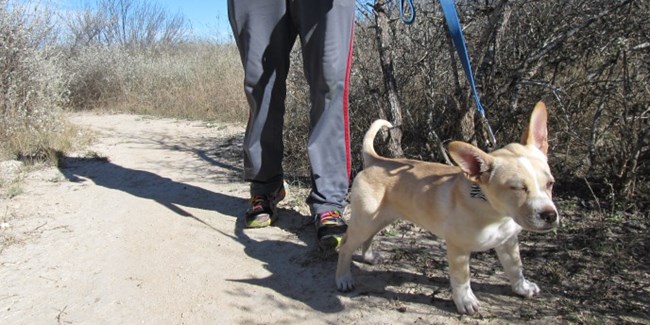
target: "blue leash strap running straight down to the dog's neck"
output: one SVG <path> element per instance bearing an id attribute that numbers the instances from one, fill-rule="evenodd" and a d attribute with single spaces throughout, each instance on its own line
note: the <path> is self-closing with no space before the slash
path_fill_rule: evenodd
<path id="1" fill-rule="evenodd" d="M 463 65 L 465 70 L 465 76 L 469 81 L 469 85 L 472 88 L 472 95 L 474 97 L 474 102 L 476 103 L 476 109 L 481 114 L 483 123 L 487 127 L 490 143 L 493 147 L 496 148 L 497 140 L 494 137 L 492 128 L 488 123 L 487 118 L 485 117 L 485 110 L 481 101 L 478 98 L 478 91 L 476 91 L 476 83 L 474 82 L 474 74 L 472 73 L 472 66 L 469 62 L 469 55 L 467 54 L 467 47 L 465 46 L 465 38 L 463 37 L 463 30 L 460 26 L 460 20 L 458 19 L 458 14 L 456 13 L 456 6 L 454 5 L 453 0 L 440 0 L 440 7 L 442 7 L 442 12 L 445 15 L 445 21 L 447 21 L 447 28 L 449 29 L 449 34 L 458 52 L 458 57 L 460 62 Z"/>

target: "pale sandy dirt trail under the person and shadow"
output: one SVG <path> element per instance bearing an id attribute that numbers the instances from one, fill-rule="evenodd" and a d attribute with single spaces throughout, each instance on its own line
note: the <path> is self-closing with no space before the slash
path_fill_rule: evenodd
<path id="1" fill-rule="evenodd" d="M 98 132 L 89 150 L 107 160 L 31 172 L 0 202 L 2 324 L 498 322 L 456 315 L 444 273 L 357 265 L 360 289 L 337 293 L 301 198 L 277 226 L 242 229 L 240 127 L 71 118 Z M 494 297 L 477 288 L 484 305 L 521 304 L 503 281 L 489 286 Z"/>

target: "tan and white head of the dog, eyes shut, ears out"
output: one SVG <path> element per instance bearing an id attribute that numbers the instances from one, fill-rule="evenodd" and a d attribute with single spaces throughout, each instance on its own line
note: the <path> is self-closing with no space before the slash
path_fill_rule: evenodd
<path id="1" fill-rule="evenodd" d="M 553 203 L 553 175 L 547 163 L 547 112 L 535 106 L 521 143 L 487 154 L 464 142 L 452 142 L 449 153 L 479 185 L 487 201 L 504 216 L 529 231 L 549 231 L 559 224 Z"/>

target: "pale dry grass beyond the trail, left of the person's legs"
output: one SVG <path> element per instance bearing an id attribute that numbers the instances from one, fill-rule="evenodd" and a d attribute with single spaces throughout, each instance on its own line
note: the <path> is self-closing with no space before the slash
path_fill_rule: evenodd
<path id="1" fill-rule="evenodd" d="M 90 47 L 67 66 L 71 104 L 183 119 L 242 122 L 248 108 L 242 69 L 233 44 L 193 42 L 164 51 L 133 53 Z"/>

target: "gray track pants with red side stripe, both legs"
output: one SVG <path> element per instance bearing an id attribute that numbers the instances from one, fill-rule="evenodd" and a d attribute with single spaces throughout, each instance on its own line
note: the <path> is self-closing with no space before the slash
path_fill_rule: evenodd
<path id="1" fill-rule="evenodd" d="M 314 214 L 343 207 L 350 179 L 347 95 L 354 10 L 354 0 L 228 0 L 250 105 L 244 178 L 252 182 L 252 195 L 282 185 L 285 81 L 299 36 L 311 96 L 307 202 Z"/>

